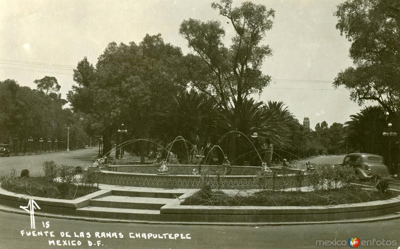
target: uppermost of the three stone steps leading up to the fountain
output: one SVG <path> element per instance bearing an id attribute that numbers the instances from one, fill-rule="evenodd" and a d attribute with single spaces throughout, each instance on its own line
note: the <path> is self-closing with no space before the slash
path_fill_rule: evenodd
<path id="1" fill-rule="evenodd" d="M 113 196 L 129 196 L 129 197 L 149 197 L 149 198 L 171 198 L 175 199 L 184 193 L 186 190 L 179 190 L 179 189 L 153 189 L 148 190 L 148 188 L 136 188 L 135 190 L 131 189 L 113 189 L 112 195 Z"/>

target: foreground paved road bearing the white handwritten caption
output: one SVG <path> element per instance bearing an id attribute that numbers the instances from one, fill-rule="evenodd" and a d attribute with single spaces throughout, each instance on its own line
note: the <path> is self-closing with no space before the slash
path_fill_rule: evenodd
<path id="1" fill-rule="evenodd" d="M 235 226 L 178 226 L 178 225 L 146 225 L 146 224 L 106 224 L 83 221 L 70 221 L 35 217 L 36 231 L 53 231 L 54 238 L 21 236 L 20 231 L 31 231 L 29 216 L 0 212 L 0 248 L 1 249 L 42 249 L 42 248 L 89 248 L 87 241 L 101 241 L 102 248 L 320 248 L 316 247 L 315 240 L 345 240 L 351 237 L 360 240 L 396 240 L 398 245 L 388 248 L 397 248 L 400 245 L 398 233 L 400 221 L 385 221 L 360 224 L 332 224 L 332 225 L 301 225 L 279 227 L 235 227 Z M 44 229 L 42 222 L 49 222 L 49 228 Z M 4 226 L 6 224 L 6 226 Z M 81 246 L 49 246 L 50 240 L 66 240 L 61 238 L 60 232 L 69 232 L 72 238 L 79 240 Z M 91 238 L 73 238 L 73 234 L 90 233 Z M 95 232 L 122 233 L 120 239 L 96 239 Z M 186 234 L 191 239 L 132 239 L 129 233 L 152 234 Z M 134 236 L 134 234 L 133 234 Z M 97 246 L 95 246 L 97 247 Z M 92 246 L 93 248 L 93 246 Z M 336 247 L 328 247 L 336 248 Z M 348 245 L 339 247 L 348 248 Z M 362 247 L 376 248 L 376 247 Z"/>

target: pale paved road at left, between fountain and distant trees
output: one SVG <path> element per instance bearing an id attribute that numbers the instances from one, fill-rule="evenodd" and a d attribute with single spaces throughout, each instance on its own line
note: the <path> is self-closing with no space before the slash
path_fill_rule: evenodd
<path id="1" fill-rule="evenodd" d="M 0 174 L 8 173 L 12 169 L 20 172 L 28 169 L 31 176 L 42 173 L 42 163 L 53 160 L 56 164 L 87 167 L 97 156 L 97 147 L 71 151 L 71 153 L 52 152 L 38 155 L 0 157 Z"/>

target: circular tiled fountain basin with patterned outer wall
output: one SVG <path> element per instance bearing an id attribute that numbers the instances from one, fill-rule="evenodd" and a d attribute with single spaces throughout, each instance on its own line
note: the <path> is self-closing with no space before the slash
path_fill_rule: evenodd
<path id="1" fill-rule="evenodd" d="M 191 175 L 193 169 L 198 170 L 198 165 L 168 165 L 168 174 L 157 175 L 159 165 L 112 165 L 100 167 L 99 183 L 119 186 L 146 187 L 146 188 L 173 188 L 173 189 L 199 189 L 204 181 L 212 188 L 219 189 L 258 189 L 254 177 L 261 167 L 254 166 L 219 166 L 201 165 L 201 171 L 215 172 L 227 169 L 228 174 L 217 178 L 200 175 Z M 287 188 L 294 187 L 296 173 L 300 169 L 271 168 L 275 173 L 270 175 L 270 181 Z M 282 182 L 284 181 L 284 183 Z M 306 186 L 306 181 L 302 186 Z"/>

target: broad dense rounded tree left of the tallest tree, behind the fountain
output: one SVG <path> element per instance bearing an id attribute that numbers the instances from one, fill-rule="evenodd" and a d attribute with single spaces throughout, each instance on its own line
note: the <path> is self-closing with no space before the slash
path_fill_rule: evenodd
<path id="1" fill-rule="evenodd" d="M 104 152 L 111 148 L 111 138 L 118 138 L 121 123 L 129 137 L 151 137 L 152 113 L 165 109 L 178 92 L 181 56 L 180 48 L 164 43 L 160 34 L 147 34 L 139 44 L 110 42 L 95 67 L 86 58 L 78 63 L 78 85 L 68 100 L 86 130 L 103 135 Z"/>

